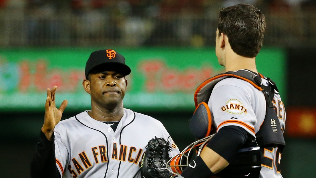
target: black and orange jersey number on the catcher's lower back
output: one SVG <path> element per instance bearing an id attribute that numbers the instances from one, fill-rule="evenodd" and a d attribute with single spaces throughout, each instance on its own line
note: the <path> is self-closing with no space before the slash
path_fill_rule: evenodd
<path id="1" fill-rule="evenodd" d="M 276 149 L 276 151 L 275 151 Z M 280 161 L 281 161 L 281 153 L 279 148 L 267 147 L 264 148 L 263 153 L 261 153 L 261 166 L 274 169 L 276 168 L 277 173 L 281 173 L 280 170 Z"/>

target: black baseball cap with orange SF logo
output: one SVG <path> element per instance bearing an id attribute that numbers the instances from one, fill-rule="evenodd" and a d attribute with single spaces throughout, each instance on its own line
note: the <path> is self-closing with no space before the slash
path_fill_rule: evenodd
<path id="1" fill-rule="evenodd" d="M 104 71 L 116 71 L 125 76 L 131 73 L 131 68 L 125 64 L 125 58 L 112 49 L 98 50 L 90 54 L 86 63 L 86 78 L 97 66 Z"/>

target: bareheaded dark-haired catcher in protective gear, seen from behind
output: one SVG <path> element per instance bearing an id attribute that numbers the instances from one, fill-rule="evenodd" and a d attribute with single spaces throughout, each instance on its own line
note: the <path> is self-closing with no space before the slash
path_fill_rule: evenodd
<path id="1" fill-rule="evenodd" d="M 256 139 L 261 165 L 249 167 L 246 175 L 231 171 L 219 177 L 282 178 L 280 160 L 285 145 L 282 135 L 285 108 L 276 84 L 259 74 L 255 64 L 265 28 L 264 15 L 252 5 L 238 4 L 220 9 L 216 56 L 226 73 L 205 81 L 195 93 L 196 106 L 206 97 L 216 134 L 179 177 L 217 176 L 233 163 L 247 140 Z M 239 163 L 234 164 L 238 166 Z M 248 168 L 235 170 L 245 169 Z M 259 171 L 253 175 L 252 170 Z"/>

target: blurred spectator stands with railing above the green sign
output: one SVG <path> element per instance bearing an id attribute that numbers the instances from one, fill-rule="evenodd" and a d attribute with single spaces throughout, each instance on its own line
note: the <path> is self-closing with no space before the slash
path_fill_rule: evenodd
<path id="1" fill-rule="evenodd" d="M 267 21 L 316 14 L 316 0 L 0 0 L 0 46 L 213 45 L 218 9 L 238 3 L 256 5 Z M 275 21 L 273 34 L 313 34 L 313 21 Z"/>

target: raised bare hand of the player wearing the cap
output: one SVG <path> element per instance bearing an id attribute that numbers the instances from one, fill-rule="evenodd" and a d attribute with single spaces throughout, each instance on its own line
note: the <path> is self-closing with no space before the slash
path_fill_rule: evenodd
<path id="1" fill-rule="evenodd" d="M 55 105 L 55 94 L 57 86 L 54 86 L 52 91 L 47 89 L 47 99 L 45 103 L 45 117 L 44 125 L 42 127 L 42 132 L 45 134 L 46 138 L 53 141 L 52 134 L 54 133 L 54 128 L 61 119 L 61 116 L 68 104 L 67 100 L 64 100 L 59 109 Z"/>

